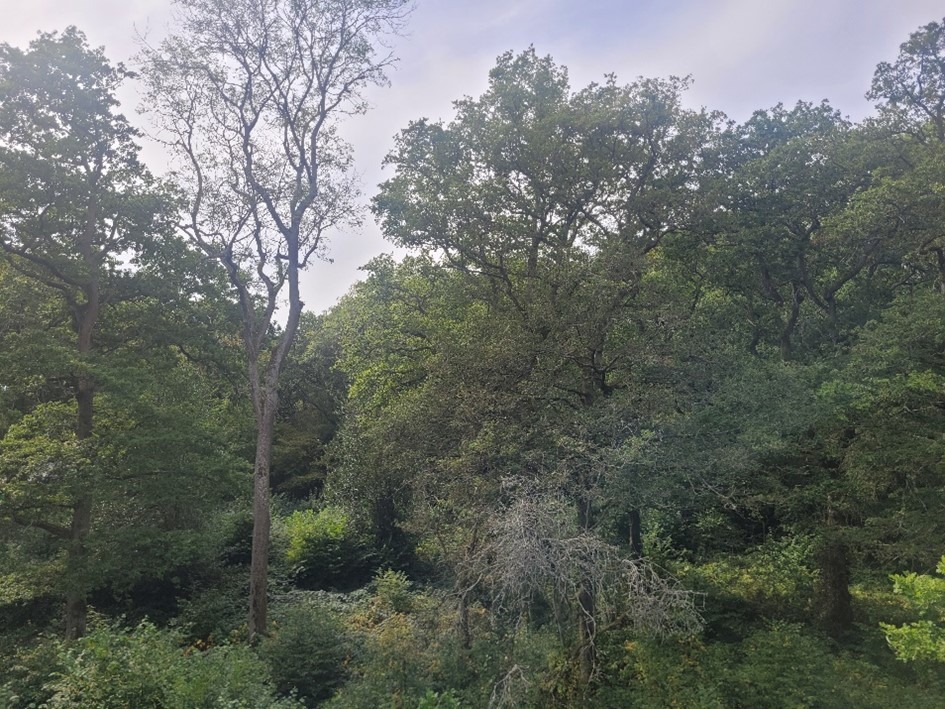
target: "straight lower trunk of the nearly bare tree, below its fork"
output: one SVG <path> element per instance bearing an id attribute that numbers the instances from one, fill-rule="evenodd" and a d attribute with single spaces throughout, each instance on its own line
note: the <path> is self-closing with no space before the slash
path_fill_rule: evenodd
<path id="1" fill-rule="evenodd" d="M 269 466 L 275 432 L 278 392 L 263 393 L 256 415 L 256 462 L 253 466 L 253 551 L 249 569 L 249 641 L 267 634 L 269 532 Z"/>

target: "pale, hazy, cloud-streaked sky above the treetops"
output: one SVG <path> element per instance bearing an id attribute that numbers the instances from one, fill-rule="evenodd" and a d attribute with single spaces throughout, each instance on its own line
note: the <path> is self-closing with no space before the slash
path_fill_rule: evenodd
<path id="1" fill-rule="evenodd" d="M 113 62 L 133 63 L 136 37 L 160 40 L 170 0 L 0 0 L 0 42 L 26 46 L 38 31 L 76 25 Z M 534 45 L 569 70 L 577 90 L 605 74 L 691 76 L 686 103 L 743 121 L 757 109 L 798 100 L 831 104 L 853 120 L 871 113 L 864 98 L 876 64 L 892 61 L 911 32 L 945 16 L 942 0 L 418 0 L 403 36 L 391 86 L 372 89 L 373 106 L 344 133 L 355 149 L 365 203 L 386 179 L 393 136 L 421 117 L 449 120 L 452 102 L 478 96 L 504 51 Z M 121 96 L 135 115 L 134 87 Z M 2 100 L 2 97 L 0 97 Z M 145 159 L 160 171 L 160 155 Z M 393 251 L 368 214 L 357 233 L 333 235 L 328 256 L 303 278 L 314 312 L 330 308 L 374 256 Z"/>

